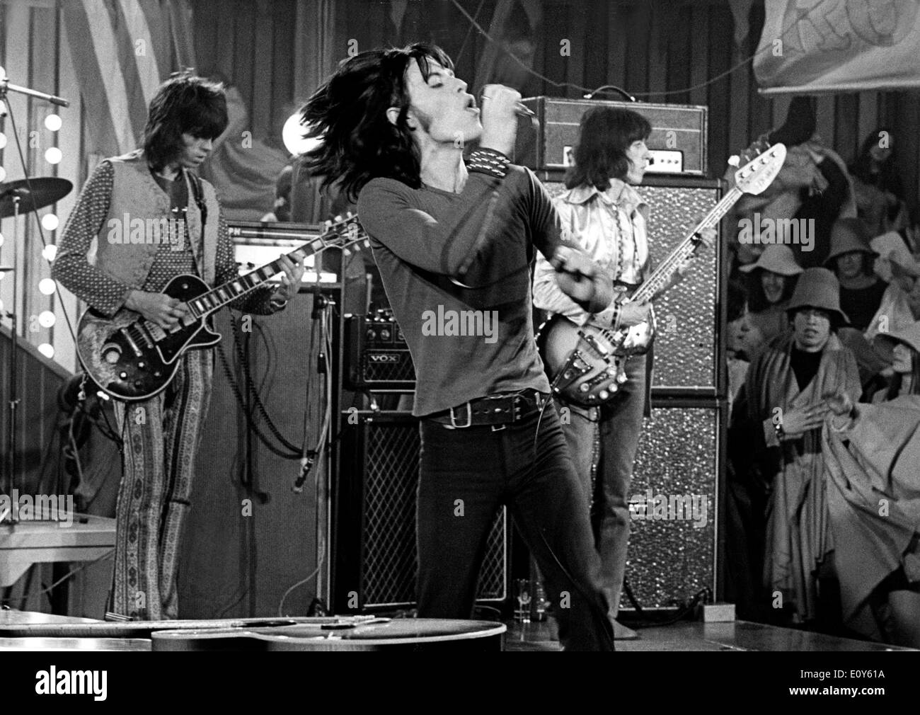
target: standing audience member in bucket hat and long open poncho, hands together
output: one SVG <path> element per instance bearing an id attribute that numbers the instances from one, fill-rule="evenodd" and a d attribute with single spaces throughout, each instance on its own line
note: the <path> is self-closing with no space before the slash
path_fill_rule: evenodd
<path id="1" fill-rule="evenodd" d="M 847 317 L 834 273 L 811 268 L 787 306 L 792 330 L 760 352 L 733 410 L 733 433 L 751 434 L 753 471 L 766 491 L 761 598 L 797 623 L 834 622 L 833 601 L 819 602 L 818 582 L 833 577 L 822 486 L 821 430 L 826 398 L 861 394 L 856 359 L 837 337 Z M 746 428 L 746 430 L 744 429 Z M 822 598 L 833 589 L 821 589 Z M 777 595 L 778 594 L 778 595 Z M 776 613 L 776 610 L 774 611 Z"/>

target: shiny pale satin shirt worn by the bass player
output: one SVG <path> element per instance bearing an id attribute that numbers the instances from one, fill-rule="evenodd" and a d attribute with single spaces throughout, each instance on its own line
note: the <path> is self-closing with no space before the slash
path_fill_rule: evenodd
<path id="1" fill-rule="evenodd" d="M 604 191 L 580 186 L 553 201 L 559 218 L 572 239 L 615 281 L 636 285 L 650 268 L 647 235 L 648 205 L 624 181 L 611 179 Z M 577 325 L 591 320 L 610 326 L 614 307 L 591 314 L 559 290 L 553 267 L 537 257 L 534 271 L 534 305 L 556 313 Z"/>

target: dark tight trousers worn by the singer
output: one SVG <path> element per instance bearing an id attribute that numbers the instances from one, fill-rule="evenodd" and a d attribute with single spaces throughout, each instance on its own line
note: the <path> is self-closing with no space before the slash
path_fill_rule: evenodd
<path id="1" fill-rule="evenodd" d="M 472 616 L 489 527 L 504 503 L 544 576 L 565 650 L 613 651 L 588 498 L 556 409 L 494 432 L 430 420 L 420 432 L 419 616 Z"/>

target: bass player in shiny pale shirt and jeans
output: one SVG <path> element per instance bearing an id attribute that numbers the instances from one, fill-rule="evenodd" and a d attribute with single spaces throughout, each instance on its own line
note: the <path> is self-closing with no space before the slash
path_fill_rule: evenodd
<path id="1" fill-rule="evenodd" d="M 627 294 L 632 293 L 651 272 L 649 207 L 633 188 L 642 182 L 650 163 L 645 143 L 651 126 L 635 111 L 594 107 L 582 116 L 580 132 L 574 166 L 566 177 L 568 190 L 554 204 L 562 225 L 581 248 Z M 704 241 L 713 236 L 714 229 L 703 232 Z M 686 267 L 684 264 L 663 290 L 677 283 Z M 596 313 L 586 311 L 559 290 L 553 273 L 552 265 L 538 256 L 534 274 L 534 305 L 538 308 L 578 325 L 591 321 L 613 329 L 635 326 L 649 317 L 650 304 L 622 300 Z M 598 407 L 582 408 L 558 399 L 559 408 L 569 409 L 569 421 L 563 421 L 562 429 L 585 493 L 591 495 L 595 546 L 601 555 L 601 577 L 617 639 L 637 637 L 615 618 L 627 562 L 629 485 L 642 416 L 650 408 L 649 363 L 650 356 L 629 360 L 626 382 L 613 399 Z"/>

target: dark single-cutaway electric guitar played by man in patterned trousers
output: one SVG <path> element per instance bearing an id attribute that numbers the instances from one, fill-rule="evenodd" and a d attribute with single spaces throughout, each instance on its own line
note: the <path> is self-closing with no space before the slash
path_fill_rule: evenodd
<path id="1" fill-rule="evenodd" d="M 351 213 L 304 246 L 287 254 L 297 263 L 327 248 L 367 245 L 367 235 Z M 189 350 L 207 348 L 221 340 L 213 331 L 211 315 L 282 272 L 275 260 L 246 275 L 211 288 L 198 276 L 183 274 L 167 283 L 162 293 L 187 304 L 189 311 L 178 324 L 163 329 L 141 314 L 121 308 L 105 317 L 90 308 L 77 326 L 76 350 L 86 373 L 106 393 L 133 402 L 149 399 L 166 389 L 178 369 L 178 359 Z"/>

